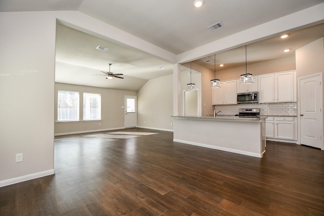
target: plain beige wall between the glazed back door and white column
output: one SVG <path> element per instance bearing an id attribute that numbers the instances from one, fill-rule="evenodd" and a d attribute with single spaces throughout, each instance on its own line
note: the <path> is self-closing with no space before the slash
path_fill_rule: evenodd
<path id="1" fill-rule="evenodd" d="M 138 91 L 137 125 L 173 130 L 173 75 L 148 80 Z"/>

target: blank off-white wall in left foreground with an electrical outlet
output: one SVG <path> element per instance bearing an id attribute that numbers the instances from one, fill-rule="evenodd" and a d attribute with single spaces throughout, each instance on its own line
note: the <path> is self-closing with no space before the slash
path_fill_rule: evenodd
<path id="1" fill-rule="evenodd" d="M 53 13 L 0 13 L 0 187 L 54 173 L 55 30 Z"/>

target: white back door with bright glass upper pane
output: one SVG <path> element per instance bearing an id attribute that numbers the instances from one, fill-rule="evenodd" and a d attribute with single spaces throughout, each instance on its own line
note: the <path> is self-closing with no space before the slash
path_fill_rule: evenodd
<path id="1" fill-rule="evenodd" d="M 125 127 L 136 127 L 136 96 L 125 96 Z"/>

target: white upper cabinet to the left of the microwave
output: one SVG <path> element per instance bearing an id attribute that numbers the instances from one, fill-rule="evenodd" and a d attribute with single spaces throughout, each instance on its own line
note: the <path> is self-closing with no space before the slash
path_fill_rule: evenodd
<path id="1" fill-rule="evenodd" d="M 237 104 L 236 79 L 221 82 L 222 87 L 213 89 L 213 105 Z"/>

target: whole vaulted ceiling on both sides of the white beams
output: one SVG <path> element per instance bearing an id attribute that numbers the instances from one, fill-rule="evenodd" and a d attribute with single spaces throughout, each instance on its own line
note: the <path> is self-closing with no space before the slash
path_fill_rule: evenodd
<path id="1" fill-rule="evenodd" d="M 323 3 L 322 0 L 205 0 L 203 7 L 194 8 L 193 1 L 113 1 L 113 0 L 11 0 L 0 1 L 0 12 L 13 11 L 79 11 L 144 39 L 151 44 L 181 54 L 242 30 L 284 17 Z M 217 22 L 215 31 L 208 29 Z M 249 62 L 256 63 L 288 55 L 295 49 L 324 36 L 323 24 L 294 29 L 289 40 L 266 38 L 248 46 Z M 97 46 L 109 48 L 96 50 Z M 290 48 L 290 54 L 282 48 Z M 245 64 L 243 47 L 217 54 L 217 62 L 229 67 Z M 197 64 L 214 69 L 205 59 Z M 106 80 L 100 74 L 108 71 L 123 73 L 124 79 Z M 164 66 L 164 69 L 157 68 Z M 102 88 L 137 91 L 151 78 L 172 74 L 173 64 L 120 44 L 58 25 L 56 50 L 56 81 Z"/>

